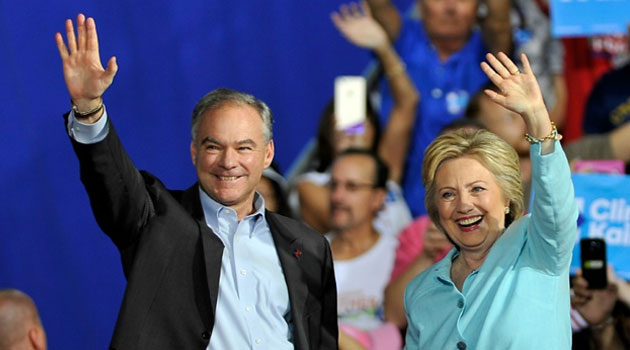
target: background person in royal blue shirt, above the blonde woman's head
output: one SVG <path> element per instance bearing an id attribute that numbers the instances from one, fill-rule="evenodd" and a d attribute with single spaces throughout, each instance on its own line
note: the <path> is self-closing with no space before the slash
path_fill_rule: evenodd
<path id="1" fill-rule="evenodd" d="M 484 1 L 485 16 L 479 21 L 479 0 L 417 0 L 414 17 L 401 16 L 389 0 L 368 3 L 420 93 L 402 179 L 405 199 L 417 217 L 426 213 L 423 152 L 444 126 L 463 115 L 469 97 L 487 81 L 478 65 L 484 54 L 510 52 L 511 1 Z M 389 115 L 392 105 L 390 89 L 382 83 L 381 116 Z"/>

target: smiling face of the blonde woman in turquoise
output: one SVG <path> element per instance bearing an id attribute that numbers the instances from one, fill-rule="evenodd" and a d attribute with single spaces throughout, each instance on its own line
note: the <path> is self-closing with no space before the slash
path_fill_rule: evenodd
<path id="1" fill-rule="evenodd" d="M 487 252 L 503 233 L 508 206 L 494 175 L 463 156 L 442 163 L 435 181 L 440 225 L 462 253 Z"/>

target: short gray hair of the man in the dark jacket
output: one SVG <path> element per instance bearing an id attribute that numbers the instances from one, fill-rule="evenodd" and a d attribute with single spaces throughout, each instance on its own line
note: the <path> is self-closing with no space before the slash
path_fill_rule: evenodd
<path id="1" fill-rule="evenodd" d="M 201 116 L 206 111 L 217 109 L 230 103 L 250 106 L 260 114 L 260 118 L 263 121 L 265 144 L 268 144 L 273 138 L 273 116 L 271 109 L 269 109 L 266 103 L 250 94 L 226 88 L 212 90 L 197 102 L 195 109 L 193 109 L 191 125 L 193 142 L 197 143 L 197 129 L 199 128 Z"/>

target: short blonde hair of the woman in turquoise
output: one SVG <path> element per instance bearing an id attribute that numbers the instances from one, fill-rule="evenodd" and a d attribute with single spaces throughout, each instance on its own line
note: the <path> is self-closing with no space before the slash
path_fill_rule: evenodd
<path id="1" fill-rule="evenodd" d="M 505 215 L 505 227 L 521 217 L 524 208 L 523 184 L 518 154 L 514 148 L 490 131 L 459 129 L 438 136 L 424 151 L 424 202 L 431 220 L 441 227 L 436 204 L 435 175 L 445 161 L 463 156 L 474 157 L 494 175 L 503 198 L 509 201 L 510 212 Z"/>

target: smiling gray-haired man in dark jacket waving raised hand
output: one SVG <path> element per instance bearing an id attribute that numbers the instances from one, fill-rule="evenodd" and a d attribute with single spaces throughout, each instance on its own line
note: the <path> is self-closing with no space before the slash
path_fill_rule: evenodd
<path id="1" fill-rule="evenodd" d="M 56 41 L 73 110 L 66 125 L 96 219 L 118 247 L 127 288 L 112 349 L 336 349 L 330 247 L 320 234 L 264 210 L 255 192 L 274 155 L 269 108 L 218 89 L 193 112 L 198 183 L 167 190 L 138 171 L 102 94 L 94 20 Z"/>

